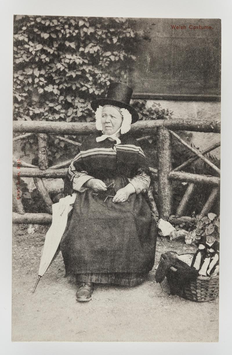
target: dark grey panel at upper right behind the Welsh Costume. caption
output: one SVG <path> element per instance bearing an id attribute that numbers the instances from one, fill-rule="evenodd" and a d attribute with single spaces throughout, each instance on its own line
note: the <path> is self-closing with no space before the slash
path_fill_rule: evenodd
<path id="1" fill-rule="evenodd" d="M 213 29 L 189 29 L 190 24 Z M 136 93 L 220 95 L 221 20 L 138 18 L 136 28 L 151 39 L 137 48 L 131 68 L 129 84 Z"/>

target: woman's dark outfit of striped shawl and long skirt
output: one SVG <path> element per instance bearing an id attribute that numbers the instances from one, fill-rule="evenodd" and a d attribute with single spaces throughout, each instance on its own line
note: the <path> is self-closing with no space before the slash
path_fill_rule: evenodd
<path id="1" fill-rule="evenodd" d="M 157 229 L 142 193 L 123 203 L 107 197 L 126 186 L 128 178 L 148 172 L 142 149 L 129 134 L 122 136 L 121 144 L 114 143 L 108 139 L 97 143 L 91 135 L 69 167 L 66 195 L 72 192 L 73 178 L 81 174 L 115 186 L 98 195 L 88 189 L 77 192 L 61 251 L 66 273 L 78 275 L 79 281 L 134 285 L 154 265 Z"/>

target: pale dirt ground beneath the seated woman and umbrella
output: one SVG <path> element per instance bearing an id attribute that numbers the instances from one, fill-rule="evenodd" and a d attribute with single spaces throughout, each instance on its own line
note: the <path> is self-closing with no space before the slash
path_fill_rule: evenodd
<path id="1" fill-rule="evenodd" d="M 13 226 L 13 341 L 218 341 L 218 298 L 197 303 L 169 296 L 166 280 L 163 290 L 155 283 L 154 269 L 140 286 L 95 286 L 92 301 L 80 304 L 74 280 L 64 278 L 60 253 L 32 294 L 48 227 L 34 234 L 27 227 Z M 195 249 L 159 237 L 155 265 L 168 250 Z"/>

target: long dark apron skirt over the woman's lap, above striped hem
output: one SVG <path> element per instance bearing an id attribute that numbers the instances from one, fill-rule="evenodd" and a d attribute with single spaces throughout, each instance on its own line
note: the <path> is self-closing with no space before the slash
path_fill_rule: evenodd
<path id="1" fill-rule="evenodd" d="M 112 181 L 116 185 L 106 193 L 96 196 L 86 190 L 77 194 L 60 245 L 67 274 L 144 275 L 154 265 L 157 228 L 146 199 L 133 194 L 123 203 L 113 203 L 112 197 L 104 202 L 128 184 L 122 176 L 104 182 Z"/>

